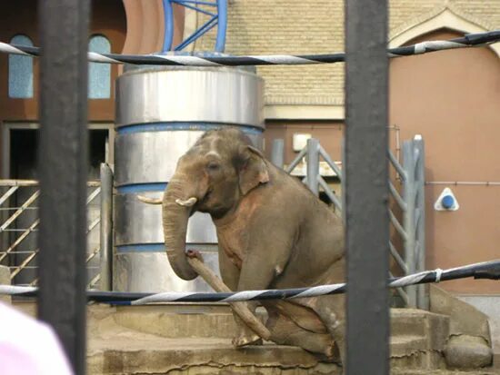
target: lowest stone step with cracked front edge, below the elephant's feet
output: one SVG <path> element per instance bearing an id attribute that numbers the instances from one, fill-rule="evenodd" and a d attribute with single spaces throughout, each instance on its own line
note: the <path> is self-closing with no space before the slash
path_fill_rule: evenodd
<path id="1" fill-rule="evenodd" d="M 424 347 L 425 339 L 420 337 L 393 338 L 391 367 L 422 370 L 442 366 L 434 351 L 408 350 Z M 341 373 L 335 363 L 321 362 L 295 347 L 265 343 L 236 350 L 229 339 L 171 339 L 123 329 L 94 332 L 89 338 L 87 365 L 88 373 L 95 375 Z"/>

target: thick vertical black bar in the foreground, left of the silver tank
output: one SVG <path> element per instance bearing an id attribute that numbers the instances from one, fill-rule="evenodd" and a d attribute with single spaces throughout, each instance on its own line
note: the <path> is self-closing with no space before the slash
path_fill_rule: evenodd
<path id="1" fill-rule="evenodd" d="M 85 196 L 89 0 L 39 0 L 40 300 L 76 374 L 85 374 Z"/>

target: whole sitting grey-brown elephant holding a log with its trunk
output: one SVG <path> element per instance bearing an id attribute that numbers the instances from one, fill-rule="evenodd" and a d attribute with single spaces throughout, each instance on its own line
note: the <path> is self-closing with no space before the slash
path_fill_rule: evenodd
<path id="1" fill-rule="evenodd" d="M 195 197 L 191 207 L 180 205 Z M 177 200 L 177 202 L 175 202 Z M 205 133 L 179 159 L 165 190 L 163 221 L 168 259 L 185 280 L 197 274 L 185 255 L 190 214 L 208 212 L 219 241 L 220 271 L 233 291 L 300 288 L 344 281 L 343 224 L 303 183 L 265 160 L 244 133 Z M 255 311 L 257 303 L 249 302 Z M 267 328 L 278 344 L 344 359 L 344 297 L 265 301 Z M 259 338 L 238 322 L 233 343 Z"/>

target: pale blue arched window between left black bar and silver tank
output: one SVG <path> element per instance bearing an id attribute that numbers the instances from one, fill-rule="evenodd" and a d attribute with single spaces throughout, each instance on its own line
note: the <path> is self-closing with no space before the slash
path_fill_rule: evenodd
<path id="1" fill-rule="evenodd" d="M 88 50 L 99 54 L 109 54 L 111 44 L 104 35 L 93 35 L 88 42 Z M 88 97 L 109 99 L 111 97 L 111 65 L 90 63 L 88 65 Z"/>

